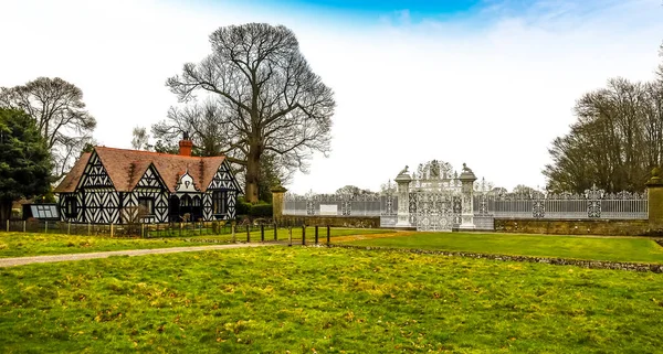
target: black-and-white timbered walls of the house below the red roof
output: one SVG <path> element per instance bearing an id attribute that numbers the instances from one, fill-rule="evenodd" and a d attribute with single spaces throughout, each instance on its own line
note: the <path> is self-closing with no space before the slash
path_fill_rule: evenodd
<path id="1" fill-rule="evenodd" d="M 232 219 L 240 185 L 227 161 L 204 192 L 170 193 L 154 164 L 134 190 L 118 192 L 101 159 L 92 152 L 73 193 L 60 194 L 62 219 L 72 223 L 167 223 L 187 219 Z M 189 215 L 186 215 L 189 214 Z"/>

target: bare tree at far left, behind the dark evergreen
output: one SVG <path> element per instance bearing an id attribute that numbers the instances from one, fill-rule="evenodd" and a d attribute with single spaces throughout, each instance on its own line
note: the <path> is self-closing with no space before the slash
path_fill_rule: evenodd
<path id="1" fill-rule="evenodd" d="M 83 92 L 60 77 L 0 87 L 0 106 L 24 110 L 34 119 L 51 151 L 56 178 L 71 168 L 96 127 L 85 110 Z"/>

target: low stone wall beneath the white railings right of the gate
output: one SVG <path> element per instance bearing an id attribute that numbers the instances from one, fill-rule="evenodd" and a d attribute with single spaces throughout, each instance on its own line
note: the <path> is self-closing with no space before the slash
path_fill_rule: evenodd
<path id="1" fill-rule="evenodd" d="M 654 236 L 646 219 L 495 218 L 495 232 L 551 235 Z"/>

